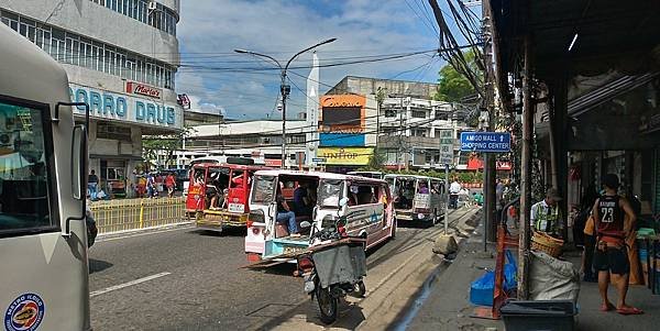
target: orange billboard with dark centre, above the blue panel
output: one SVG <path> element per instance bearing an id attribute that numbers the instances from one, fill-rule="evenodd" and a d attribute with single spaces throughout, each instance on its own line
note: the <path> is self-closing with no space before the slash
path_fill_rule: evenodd
<path id="1" fill-rule="evenodd" d="M 366 97 L 336 95 L 321 97 L 320 131 L 339 133 L 364 132 Z"/>

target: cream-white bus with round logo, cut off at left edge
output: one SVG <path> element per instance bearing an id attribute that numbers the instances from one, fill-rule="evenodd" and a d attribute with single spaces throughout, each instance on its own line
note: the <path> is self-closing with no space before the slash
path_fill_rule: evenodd
<path id="1" fill-rule="evenodd" d="M 51 56 L 4 24 L 0 45 L 2 329 L 91 330 L 86 126 Z"/>

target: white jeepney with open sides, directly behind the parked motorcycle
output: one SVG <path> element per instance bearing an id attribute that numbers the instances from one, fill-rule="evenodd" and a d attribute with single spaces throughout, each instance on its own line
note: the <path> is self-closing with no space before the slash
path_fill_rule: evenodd
<path id="1" fill-rule="evenodd" d="M 299 206 L 297 192 L 302 188 L 311 206 Z M 286 219 L 278 220 L 282 197 L 294 211 L 300 236 L 290 235 Z M 348 203 L 340 205 L 345 198 Z M 316 230 L 334 225 L 346 218 L 349 235 L 366 239 L 366 249 L 394 238 L 396 223 L 389 187 L 385 180 L 320 172 L 258 170 L 254 173 L 250 196 L 250 216 L 245 253 L 250 261 L 279 258 L 309 247 L 309 231 L 302 221 Z M 290 257 L 284 257 L 290 261 Z"/>

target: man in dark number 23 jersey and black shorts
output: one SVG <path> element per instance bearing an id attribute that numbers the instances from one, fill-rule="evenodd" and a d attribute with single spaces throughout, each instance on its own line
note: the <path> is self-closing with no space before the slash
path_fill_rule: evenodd
<path id="1" fill-rule="evenodd" d="M 617 195 L 619 181 L 615 174 L 605 175 L 603 186 L 605 194 L 593 207 L 596 232 L 594 268 L 598 272 L 598 291 L 603 299 L 601 311 L 616 309 L 620 315 L 640 315 L 644 313 L 641 309 L 626 304 L 630 274 L 626 238 L 632 233 L 637 218 L 628 200 Z M 618 293 L 616 306 L 607 298 L 609 278 Z"/>

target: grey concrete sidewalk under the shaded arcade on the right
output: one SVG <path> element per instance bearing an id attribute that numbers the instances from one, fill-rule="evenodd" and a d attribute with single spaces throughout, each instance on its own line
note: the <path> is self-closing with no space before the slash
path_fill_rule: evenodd
<path id="1" fill-rule="evenodd" d="M 484 273 L 483 267 L 495 267 L 495 258 L 484 256 L 481 231 L 482 228 L 479 228 L 461 244 L 459 256 L 439 275 L 407 330 L 504 330 L 503 321 L 470 317 L 474 310 L 469 300 L 470 284 Z M 488 245 L 488 252 L 494 254 L 495 246 Z M 580 263 L 580 257 L 568 260 L 574 265 Z M 610 300 L 616 300 L 612 286 L 609 294 Z M 616 312 L 601 312 L 597 284 L 582 283 L 576 330 L 657 330 L 660 326 L 660 296 L 651 295 L 646 286 L 631 286 L 628 298 L 630 305 L 646 313 L 625 317 Z"/>

